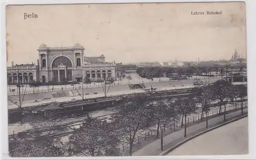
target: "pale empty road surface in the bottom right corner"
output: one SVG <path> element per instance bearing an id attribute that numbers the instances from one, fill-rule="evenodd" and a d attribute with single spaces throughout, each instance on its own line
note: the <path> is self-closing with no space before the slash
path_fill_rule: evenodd
<path id="1" fill-rule="evenodd" d="M 209 131 L 168 155 L 248 154 L 248 117 Z"/>

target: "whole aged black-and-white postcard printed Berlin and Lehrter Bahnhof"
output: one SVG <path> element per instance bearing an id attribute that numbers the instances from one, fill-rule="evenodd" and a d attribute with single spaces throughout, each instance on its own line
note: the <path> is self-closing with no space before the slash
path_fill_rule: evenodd
<path id="1" fill-rule="evenodd" d="M 11 157 L 248 154 L 244 2 L 8 5 L 6 54 Z"/>

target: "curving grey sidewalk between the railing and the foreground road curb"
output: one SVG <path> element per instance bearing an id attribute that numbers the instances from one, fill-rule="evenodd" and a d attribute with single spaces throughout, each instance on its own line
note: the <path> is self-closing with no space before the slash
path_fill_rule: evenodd
<path id="1" fill-rule="evenodd" d="M 244 115 L 245 114 L 247 114 L 247 109 L 244 109 Z M 241 110 L 227 114 L 226 119 L 231 120 L 234 117 L 238 117 L 239 115 L 241 115 Z M 208 128 L 217 126 L 221 123 L 224 123 L 223 115 L 215 117 L 215 118 L 211 118 L 208 120 Z M 187 127 L 187 137 L 186 138 L 184 138 L 184 129 L 175 131 L 172 134 L 169 134 L 169 135 L 163 137 L 164 151 L 175 146 L 176 144 L 180 143 L 181 141 L 183 141 L 191 136 L 194 136 L 204 130 L 206 130 L 206 122 L 205 121 Z M 162 153 L 160 142 L 161 142 L 161 139 L 158 139 L 150 144 L 147 144 L 143 148 L 133 152 L 133 156 L 160 155 Z"/>

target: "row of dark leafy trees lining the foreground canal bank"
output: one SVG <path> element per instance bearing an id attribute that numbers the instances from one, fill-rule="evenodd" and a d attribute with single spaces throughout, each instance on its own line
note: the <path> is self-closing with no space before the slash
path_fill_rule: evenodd
<path id="1" fill-rule="evenodd" d="M 33 140 L 10 140 L 11 156 L 109 156 L 121 155 L 119 144 L 125 139 L 129 143 L 129 153 L 132 155 L 136 134 L 140 130 L 158 126 L 161 136 L 161 150 L 163 150 L 163 131 L 168 124 L 175 124 L 180 117 L 184 117 L 184 137 L 186 137 L 186 117 L 196 112 L 208 115 L 207 105 L 211 101 L 219 100 L 220 107 L 224 105 L 224 120 L 226 119 L 227 102 L 236 103 L 238 97 L 246 98 L 247 87 L 238 88 L 226 81 L 217 81 L 214 84 L 198 87 L 193 97 L 176 99 L 160 98 L 147 101 L 145 95 L 129 95 L 112 115 L 116 123 L 84 119 L 81 127 L 75 129 L 66 143 L 60 138 L 52 138 L 51 132 L 56 129 L 55 124 L 48 125 L 48 132 L 38 132 Z M 236 90 L 234 95 L 233 90 Z M 201 104 L 201 108 L 197 107 Z M 241 107 L 243 113 L 243 107 Z M 182 118 L 183 123 L 183 118 Z M 38 128 L 37 125 L 33 125 Z M 183 127 L 183 126 L 182 126 Z M 207 120 L 206 120 L 207 127 Z M 52 129 L 51 129 L 52 128 Z M 59 130 L 65 128 L 59 128 Z"/>

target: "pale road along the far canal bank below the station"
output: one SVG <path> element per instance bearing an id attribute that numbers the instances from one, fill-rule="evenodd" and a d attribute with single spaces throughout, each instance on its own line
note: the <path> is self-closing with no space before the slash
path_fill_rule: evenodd
<path id="1" fill-rule="evenodd" d="M 218 78 L 211 79 L 212 82 L 217 81 L 217 80 L 218 80 Z M 177 84 L 180 84 L 180 81 L 152 83 L 152 84 L 146 84 L 145 86 L 146 86 L 146 88 L 150 88 L 151 86 L 153 88 L 157 88 L 157 91 L 176 90 L 176 89 L 185 89 L 185 88 L 194 87 L 193 84 L 190 84 L 191 81 L 183 80 L 182 82 L 183 82 L 183 86 L 177 85 Z M 246 84 L 246 83 L 236 83 L 236 85 L 239 85 L 239 84 Z M 91 94 L 89 94 L 89 95 L 86 95 L 86 93 L 89 93 L 88 89 L 84 90 L 84 98 L 97 98 L 97 97 L 104 96 L 102 88 L 91 88 L 91 89 L 95 89 L 95 91 L 91 91 L 90 92 Z M 98 90 L 96 90 L 96 89 L 98 89 Z M 41 105 L 41 104 L 50 103 L 50 102 L 65 102 L 65 101 L 82 99 L 81 96 L 77 95 L 78 92 L 80 94 L 82 93 L 81 89 L 79 89 L 77 91 L 62 91 L 62 92 L 65 93 L 65 95 L 69 95 L 69 96 L 53 98 L 54 92 L 25 94 L 24 97 L 22 95 L 21 96 L 21 99 L 23 99 L 22 107 Z M 98 94 L 94 94 L 94 92 L 97 92 Z M 143 92 L 145 92 L 145 91 L 142 89 L 130 90 L 128 86 L 114 86 L 110 89 L 110 91 L 106 95 L 107 96 L 117 96 L 117 95 L 143 93 Z M 8 109 L 18 108 L 17 104 L 19 101 L 19 96 L 12 95 L 12 96 L 8 96 L 8 98 L 10 100 L 12 100 L 13 102 L 16 102 L 16 104 L 14 104 L 13 102 L 8 100 Z M 42 98 L 47 98 L 47 99 L 42 99 Z"/>

